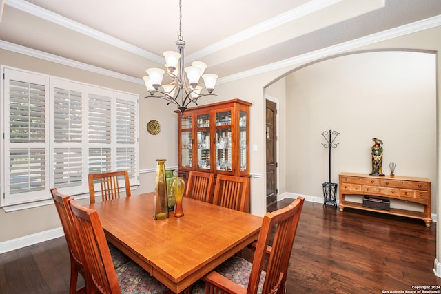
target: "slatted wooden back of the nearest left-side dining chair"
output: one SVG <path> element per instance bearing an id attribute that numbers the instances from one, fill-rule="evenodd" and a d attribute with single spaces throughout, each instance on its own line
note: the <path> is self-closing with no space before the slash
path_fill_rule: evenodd
<path id="1" fill-rule="evenodd" d="M 86 284 L 91 293 L 121 293 L 98 213 L 70 199 L 70 209 L 85 257 Z"/>

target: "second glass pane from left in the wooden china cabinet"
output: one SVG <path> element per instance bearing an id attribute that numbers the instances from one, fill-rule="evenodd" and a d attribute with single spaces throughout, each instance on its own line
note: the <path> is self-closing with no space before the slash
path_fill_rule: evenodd
<path id="1" fill-rule="evenodd" d="M 210 158 L 210 134 L 209 134 L 209 114 L 198 115 L 196 123 L 196 137 L 197 137 L 197 168 L 211 169 Z"/>

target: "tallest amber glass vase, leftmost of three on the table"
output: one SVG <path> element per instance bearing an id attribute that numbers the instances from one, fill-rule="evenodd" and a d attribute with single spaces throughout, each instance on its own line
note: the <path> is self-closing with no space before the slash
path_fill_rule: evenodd
<path id="1" fill-rule="evenodd" d="M 168 218 L 167 182 L 165 180 L 165 159 L 156 159 L 156 189 L 154 193 L 154 219 Z"/>

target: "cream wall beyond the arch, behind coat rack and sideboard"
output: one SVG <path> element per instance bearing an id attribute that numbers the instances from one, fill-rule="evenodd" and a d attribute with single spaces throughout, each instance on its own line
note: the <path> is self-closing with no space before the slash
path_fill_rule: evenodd
<path id="1" fill-rule="evenodd" d="M 322 196 L 322 182 L 329 180 L 329 149 L 322 146 L 326 141 L 320 133 L 329 129 L 340 132 L 339 145 L 331 150 L 332 182 L 342 171 L 372 171 L 372 138 L 384 143 L 384 174 L 390 173 L 389 162 L 396 162 L 396 176 L 435 181 L 435 58 L 419 52 L 367 52 L 287 76 L 287 112 L 293 114 L 287 117 L 287 191 Z M 435 193 L 432 198 L 436 210 Z"/>

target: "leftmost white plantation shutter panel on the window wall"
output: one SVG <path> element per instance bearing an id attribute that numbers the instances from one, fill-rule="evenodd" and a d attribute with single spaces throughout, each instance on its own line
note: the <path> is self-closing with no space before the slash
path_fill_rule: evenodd
<path id="1" fill-rule="evenodd" d="M 4 204 L 48 198 L 48 78 L 5 69 Z"/>

